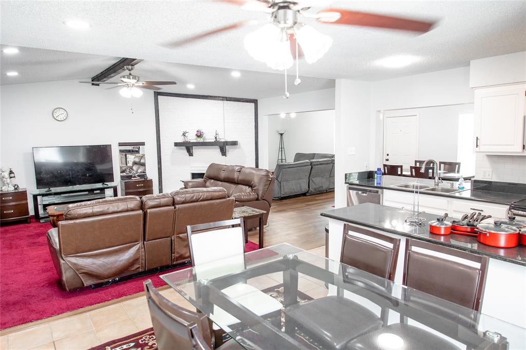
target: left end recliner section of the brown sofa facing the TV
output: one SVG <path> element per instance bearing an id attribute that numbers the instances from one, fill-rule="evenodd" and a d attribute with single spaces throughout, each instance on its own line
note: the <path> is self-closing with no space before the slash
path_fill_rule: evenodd
<path id="1" fill-rule="evenodd" d="M 141 201 L 126 196 L 70 204 L 47 242 L 67 291 L 144 271 Z"/>

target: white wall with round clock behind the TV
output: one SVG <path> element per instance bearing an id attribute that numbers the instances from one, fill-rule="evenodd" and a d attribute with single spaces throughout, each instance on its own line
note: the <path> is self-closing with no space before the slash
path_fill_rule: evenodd
<path id="1" fill-rule="evenodd" d="M 111 144 L 117 182 L 117 144 L 130 141 L 146 142 L 146 170 L 154 181 L 154 191 L 157 189 L 153 92 L 146 90 L 141 98 L 126 99 L 118 89 L 67 80 L 4 85 L 0 97 L 0 164 L 13 168 L 19 186 L 28 192 L 36 188 L 32 147 Z M 55 107 L 65 108 L 68 119 L 55 121 L 51 116 Z M 29 200 L 32 203 L 31 197 Z"/>

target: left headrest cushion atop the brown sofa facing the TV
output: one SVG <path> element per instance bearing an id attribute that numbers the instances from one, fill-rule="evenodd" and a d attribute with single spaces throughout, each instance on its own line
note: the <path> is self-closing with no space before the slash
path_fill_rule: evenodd
<path id="1" fill-rule="evenodd" d="M 69 204 L 64 211 L 64 220 L 97 217 L 99 215 L 141 210 L 142 202 L 136 195 L 96 199 Z"/>

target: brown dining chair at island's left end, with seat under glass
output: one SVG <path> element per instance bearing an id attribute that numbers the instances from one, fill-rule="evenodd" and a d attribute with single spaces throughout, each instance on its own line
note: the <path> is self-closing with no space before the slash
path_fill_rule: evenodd
<path id="1" fill-rule="evenodd" d="M 399 248 L 400 239 L 346 224 L 343 228 L 340 262 L 380 276 L 382 281 L 393 281 Z M 345 281 L 346 271 L 343 271 L 343 275 Z M 371 283 L 375 282 L 371 280 Z M 377 287 L 387 288 L 386 285 Z M 387 314 L 383 310 L 379 317 L 369 308 L 341 295 L 292 305 L 285 309 L 285 315 L 296 324 L 301 324 L 301 332 L 329 349 L 342 349 L 351 339 L 375 331 L 387 322 Z M 330 315 L 332 320 L 323 321 L 324 315 Z"/>

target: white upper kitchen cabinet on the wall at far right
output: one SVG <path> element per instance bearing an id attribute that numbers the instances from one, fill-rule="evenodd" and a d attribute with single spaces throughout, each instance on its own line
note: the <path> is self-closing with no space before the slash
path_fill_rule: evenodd
<path id="1" fill-rule="evenodd" d="M 524 153 L 526 84 L 475 90 L 476 151 L 487 154 Z"/>

